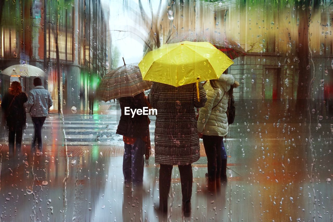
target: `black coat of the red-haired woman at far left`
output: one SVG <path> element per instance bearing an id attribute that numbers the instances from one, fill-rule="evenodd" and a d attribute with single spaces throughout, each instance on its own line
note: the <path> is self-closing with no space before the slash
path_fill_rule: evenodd
<path id="1" fill-rule="evenodd" d="M 7 93 L 3 97 L 1 108 L 6 115 L 6 122 L 9 131 L 15 131 L 15 127 L 25 127 L 27 118 L 23 103 L 25 103 L 27 100 L 27 95 L 24 92 L 18 96 L 13 96 Z"/>

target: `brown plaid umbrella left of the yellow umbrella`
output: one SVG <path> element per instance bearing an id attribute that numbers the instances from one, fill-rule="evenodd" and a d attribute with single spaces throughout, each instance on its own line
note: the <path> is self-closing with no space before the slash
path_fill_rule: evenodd
<path id="1" fill-rule="evenodd" d="M 137 64 L 125 64 L 103 77 L 98 87 L 97 98 L 109 101 L 120 97 L 135 96 L 150 89 L 151 86 L 152 82 L 142 80 Z"/>

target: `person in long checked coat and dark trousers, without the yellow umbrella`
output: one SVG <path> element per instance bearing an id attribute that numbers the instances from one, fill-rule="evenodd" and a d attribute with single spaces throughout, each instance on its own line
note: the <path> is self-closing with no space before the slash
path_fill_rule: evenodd
<path id="1" fill-rule="evenodd" d="M 191 212 L 192 166 L 200 157 L 200 144 L 194 107 L 203 107 L 206 92 L 199 85 L 199 102 L 195 83 L 179 87 L 154 82 L 149 102 L 157 109 L 155 127 L 155 162 L 160 164 L 160 210 L 167 212 L 173 165 L 178 165 L 182 192 L 182 209 Z"/>

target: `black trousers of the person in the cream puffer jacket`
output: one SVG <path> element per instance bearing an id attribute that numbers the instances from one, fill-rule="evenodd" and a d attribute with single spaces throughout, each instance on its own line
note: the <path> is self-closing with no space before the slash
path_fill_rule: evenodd
<path id="1" fill-rule="evenodd" d="M 221 175 L 221 147 L 223 137 L 203 135 L 202 140 L 207 156 L 208 180 L 215 181 L 216 179 L 220 179 Z"/>

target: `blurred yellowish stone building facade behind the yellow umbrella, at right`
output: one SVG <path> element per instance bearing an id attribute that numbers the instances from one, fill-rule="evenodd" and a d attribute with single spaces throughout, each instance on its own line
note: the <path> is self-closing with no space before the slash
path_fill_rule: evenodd
<path id="1" fill-rule="evenodd" d="M 247 53 L 228 69 L 241 83 L 236 100 L 290 104 L 310 94 L 321 103 L 333 85 L 332 11 L 329 0 L 166 1 L 152 21 L 144 54 L 177 36 L 227 38 Z M 132 16 L 145 27 L 147 18 Z"/>

